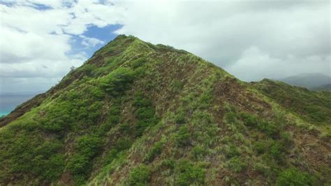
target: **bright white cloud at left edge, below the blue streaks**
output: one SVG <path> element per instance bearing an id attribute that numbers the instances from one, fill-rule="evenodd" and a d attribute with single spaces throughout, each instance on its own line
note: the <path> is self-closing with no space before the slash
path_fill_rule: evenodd
<path id="1" fill-rule="evenodd" d="M 65 53 L 71 50 L 70 36 L 36 34 L 2 27 L 1 63 L 22 63 L 27 59 L 67 59 Z M 14 61 L 13 61 L 14 59 Z"/>

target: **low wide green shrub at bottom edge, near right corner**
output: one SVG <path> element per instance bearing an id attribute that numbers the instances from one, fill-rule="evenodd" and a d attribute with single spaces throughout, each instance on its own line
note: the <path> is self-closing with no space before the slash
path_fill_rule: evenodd
<path id="1" fill-rule="evenodd" d="M 290 168 L 279 174 L 276 180 L 276 185 L 316 185 L 316 178 L 315 176 L 309 175 L 309 173 L 299 171 L 295 168 Z"/>

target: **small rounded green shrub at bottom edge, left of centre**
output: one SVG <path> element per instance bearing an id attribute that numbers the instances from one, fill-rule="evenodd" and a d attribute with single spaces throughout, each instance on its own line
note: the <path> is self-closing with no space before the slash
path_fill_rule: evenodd
<path id="1" fill-rule="evenodd" d="M 140 164 L 135 167 L 128 178 L 128 185 L 147 185 L 150 180 L 150 171 L 147 166 Z"/>

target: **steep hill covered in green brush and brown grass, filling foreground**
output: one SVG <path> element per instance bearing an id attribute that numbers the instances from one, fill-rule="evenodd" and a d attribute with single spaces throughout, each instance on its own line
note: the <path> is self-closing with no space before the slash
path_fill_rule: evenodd
<path id="1" fill-rule="evenodd" d="M 0 120 L 1 185 L 330 185 L 330 94 L 272 83 L 118 36 Z"/>

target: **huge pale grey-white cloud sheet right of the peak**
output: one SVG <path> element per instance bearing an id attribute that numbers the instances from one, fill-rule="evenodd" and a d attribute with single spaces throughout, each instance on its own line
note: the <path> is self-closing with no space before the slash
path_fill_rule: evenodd
<path id="1" fill-rule="evenodd" d="M 126 8 L 124 27 L 118 34 L 132 34 L 152 43 L 189 50 L 244 80 L 311 71 L 330 74 L 330 63 L 324 60 L 330 59 L 329 1 L 117 3 Z M 265 61 L 245 61 L 245 52 L 252 46 L 263 50 Z M 309 60 L 314 57 L 318 60 Z M 271 65 L 270 60 L 277 65 Z M 242 74 L 243 66 L 265 66 L 270 73 Z"/>

